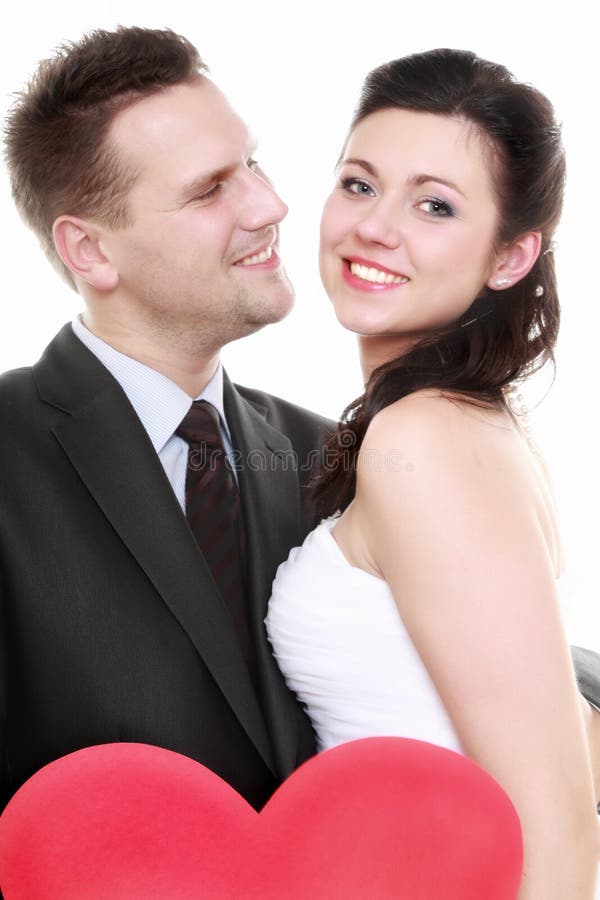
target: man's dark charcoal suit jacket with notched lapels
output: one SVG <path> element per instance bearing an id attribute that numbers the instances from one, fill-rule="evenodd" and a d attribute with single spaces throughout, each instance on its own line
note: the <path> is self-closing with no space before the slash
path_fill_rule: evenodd
<path id="1" fill-rule="evenodd" d="M 315 524 L 305 486 L 331 423 L 228 380 L 225 409 L 260 697 L 115 379 L 70 326 L 32 369 L 0 378 L 2 802 L 65 753 L 141 741 L 199 760 L 259 807 L 314 752 L 263 620 L 277 565 Z"/>

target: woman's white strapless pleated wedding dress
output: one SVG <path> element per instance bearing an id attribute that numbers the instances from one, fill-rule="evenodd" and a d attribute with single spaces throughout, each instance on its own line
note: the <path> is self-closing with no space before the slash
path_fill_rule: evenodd
<path id="1" fill-rule="evenodd" d="M 267 633 L 319 750 L 392 735 L 461 751 L 385 581 L 351 566 L 326 519 L 279 566 Z"/>

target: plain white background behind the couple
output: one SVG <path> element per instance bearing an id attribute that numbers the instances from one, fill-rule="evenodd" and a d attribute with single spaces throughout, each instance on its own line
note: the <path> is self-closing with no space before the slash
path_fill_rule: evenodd
<path id="1" fill-rule="evenodd" d="M 533 414 L 553 473 L 567 550 L 565 612 L 571 639 L 600 649 L 600 501 L 596 372 L 599 355 L 598 45 L 584 0 L 285 0 L 212 3 L 12 3 L 3 17 L 2 113 L 37 62 L 65 40 L 118 24 L 170 27 L 198 47 L 212 75 L 259 138 L 258 159 L 290 206 L 282 248 L 297 289 L 282 324 L 226 349 L 234 380 L 331 417 L 360 393 L 354 339 L 337 325 L 317 275 L 318 221 L 333 183 L 358 89 L 381 62 L 433 47 L 459 47 L 507 65 L 553 101 L 567 148 L 567 202 L 557 265 L 563 327 L 556 381 Z M 34 362 L 80 308 L 12 207 L 0 171 L 4 290 L 0 370 Z M 536 405 L 548 379 L 529 392 Z"/>

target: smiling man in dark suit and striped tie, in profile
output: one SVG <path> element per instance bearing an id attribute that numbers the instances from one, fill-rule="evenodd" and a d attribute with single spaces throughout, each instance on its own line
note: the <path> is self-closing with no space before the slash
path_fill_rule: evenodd
<path id="1" fill-rule="evenodd" d="M 220 367 L 292 292 L 286 208 L 203 69 L 171 32 L 95 32 L 9 120 L 17 205 L 85 312 L 0 380 L 5 800 L 65 753 L 140 741 L 260 807 L 314 752 L 262 623 L 331 423 Z"/>

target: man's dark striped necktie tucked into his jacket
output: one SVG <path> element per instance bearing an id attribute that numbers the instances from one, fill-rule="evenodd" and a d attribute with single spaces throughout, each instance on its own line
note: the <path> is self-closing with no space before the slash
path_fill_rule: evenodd
<path id="1" fill-rule="evenodd" d="M 219 413 L 210 403 L 196 400 L 175 434 L 189 447 L 186 517 L 231 613 L 242 654 L 255 679 L 254 645 L 244 585 L 245 538 L 240 494 L 223 446 Z"/>

